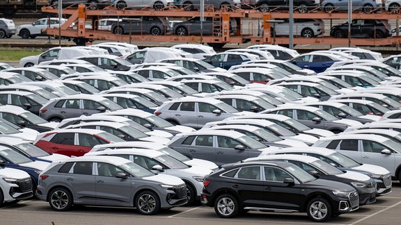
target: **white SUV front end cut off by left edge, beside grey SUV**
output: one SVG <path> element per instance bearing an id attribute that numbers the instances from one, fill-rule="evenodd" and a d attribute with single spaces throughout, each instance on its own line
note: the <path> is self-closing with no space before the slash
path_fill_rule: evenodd
<path id="1" fill-rule="evenodd" d="M 0 206 L 5 202 L 32 197 L 31 176 L 19 169 L 5 168 L 4 164 L 3 160 L 0 160 Z"/>

